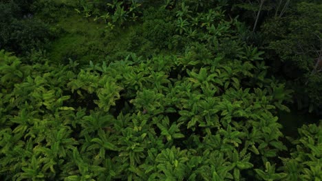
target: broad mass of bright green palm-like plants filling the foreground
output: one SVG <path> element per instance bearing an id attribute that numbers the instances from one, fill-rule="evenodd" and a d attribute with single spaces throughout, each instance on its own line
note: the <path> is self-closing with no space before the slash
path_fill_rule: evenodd
<path id="1" fill-rule="evenodd" d="M 0 51 L 1 180 L 321 178 L 321 125 L 286 147 L 276 112 L 291 92 L 237 20 L 180 5 L 178 36 L 198 32 L 178 56 L 78 67 Z"/>

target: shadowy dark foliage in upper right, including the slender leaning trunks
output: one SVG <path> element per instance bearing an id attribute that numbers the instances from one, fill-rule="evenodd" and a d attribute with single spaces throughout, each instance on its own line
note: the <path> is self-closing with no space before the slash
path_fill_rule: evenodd
<path id="1" fill-rule="evenodd" d="M 270 71 L 295 90 L 297 109 L 320 115 L 321 5 L 321 2 L 299 0 L 233 3 L 233 12 L 241 14 L 253 26 L 253 32 L 245 33 L 244 40 L 267 52 L 265 60 Z"/>

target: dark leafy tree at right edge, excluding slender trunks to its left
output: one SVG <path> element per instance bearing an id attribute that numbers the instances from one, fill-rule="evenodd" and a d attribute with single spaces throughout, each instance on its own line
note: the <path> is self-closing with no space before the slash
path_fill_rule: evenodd
<path id="1" fill-rule="evenodd" d="M 288 16 L 270 19 L 262 33 L 266 37 L 268 60 L 281 61 L 283 67 L 275 67 L 296 90 L 299 108 L 321 114 L 321 37 L 322 6 L 316 3 L 297 3 Z M 296 88 L 299 87 L 299 88 Z M 302 97 L 302 98 L 301 98 Z M 308 104 L 305 104 L 308 102 Z"/>

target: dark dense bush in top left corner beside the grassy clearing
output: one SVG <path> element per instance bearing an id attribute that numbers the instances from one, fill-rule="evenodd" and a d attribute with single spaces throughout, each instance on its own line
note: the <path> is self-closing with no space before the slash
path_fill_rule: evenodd
<path id="1" fill-rule="evenodd" d="M 45 41 L 51 38 L 49 27 L 32 14 L 23 14 L 21 4 L 14 1 L 1 2 L 0 12 L 0 49 L 25 54 L 31 49 L 41 49 Z"/>

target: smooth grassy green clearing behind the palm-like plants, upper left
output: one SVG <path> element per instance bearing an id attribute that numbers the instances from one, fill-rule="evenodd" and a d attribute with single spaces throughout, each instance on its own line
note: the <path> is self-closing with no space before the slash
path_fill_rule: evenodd
<path id="1" fill-rule="evenodd" d="M 136 26 L 107 29 L 104 23 L 84 19 L 78 14 L 61 19 L 57 26 L 64 34 L 50 47 L 50 60 L 67 63 L 69 58 L 87 64 L 125 57 L 131 44 L 131 32 Z"/>

